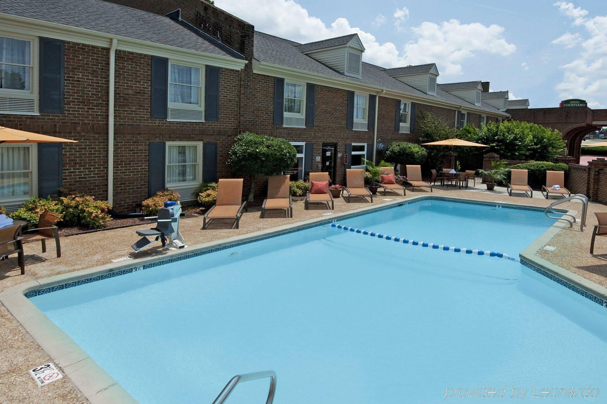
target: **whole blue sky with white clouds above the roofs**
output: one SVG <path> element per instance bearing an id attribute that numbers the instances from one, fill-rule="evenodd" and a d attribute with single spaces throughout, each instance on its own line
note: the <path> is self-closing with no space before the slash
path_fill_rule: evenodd
<path id="1" fill-rule="evenodd" d="M 532 108 L 583 98 L 607 108 L 605 0 L 215 0 L 257 30 L 298 42 L 356 32 L 364 60 L 436 63 L 439 83 L 483 80 Z"/>

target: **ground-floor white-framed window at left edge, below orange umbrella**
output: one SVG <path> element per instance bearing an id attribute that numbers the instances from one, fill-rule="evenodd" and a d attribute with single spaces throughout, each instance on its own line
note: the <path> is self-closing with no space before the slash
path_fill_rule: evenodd
<path id="1" fill-rule="evenodd" d="M 0 145 L 0 203 L 19 202 L 38 194 L 36 145 Z"/>

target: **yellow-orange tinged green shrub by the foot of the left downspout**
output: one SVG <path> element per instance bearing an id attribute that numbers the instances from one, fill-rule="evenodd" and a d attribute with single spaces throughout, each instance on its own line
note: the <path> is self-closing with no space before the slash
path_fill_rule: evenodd
<path id="1" fill-rule="evenodd" d="M 90 195 L 69 195 L 60 197 L 59 201 L 63 205 L 63 225 L 103 228 L 112 221 L 107 200 L 95 200 L 95 197 Z"/>

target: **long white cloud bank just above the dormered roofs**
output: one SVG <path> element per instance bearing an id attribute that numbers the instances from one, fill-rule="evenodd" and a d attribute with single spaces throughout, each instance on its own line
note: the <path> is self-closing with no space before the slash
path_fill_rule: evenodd
<path id="1" fill-rule="evenodd" d="M 380 43 L 373 34 L 352 27 L 345 18 L 325 24 L 293 0 L 215 0 L 215 4 L 251 22 L 259 31 L 300 43 L 358 33 L 365 46 L 364 60 L 384 67 L 436 63 L 441 75 L 459 75 L 463 74 L 461 63 L 477 53 L 510 55 L 517 49 L 503 38 L 503 27 L 484 26 L 480 22 L 461 24 L 455 19 L 440 24 L 422 22 L 410 28 L 413 39 L 399 50 L 392 42 Z M 404 24 L 408 15 L 409 10 L 403 7 L 396 10 L 393 18 Z"/>

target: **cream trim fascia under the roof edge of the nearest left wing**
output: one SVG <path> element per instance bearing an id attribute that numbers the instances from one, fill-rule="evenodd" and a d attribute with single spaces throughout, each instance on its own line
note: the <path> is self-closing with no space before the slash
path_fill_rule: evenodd
<path id="1" fill-rule="evenodd" d="M 163 58 L 189 61 L 190 63 L 211 64 L 226 69 L 241 70 L 247 61 L 228 56 L 212 55 L 211 53 L 197 52 L 175 46 L 155 44 L 139 39 L 126 38 L 120 35 L 69 27 L 54 22 L 40 21 L 38 19 L 24 18 L 15 15 L 0 13 L 0 26 L 11 32 L 26 35 L 46 36 L 47 38 L 61 39 L 63 41 L 87 44 L 109 48 L 112 39 L 118 39 L 118 50 L 143 53 L 144 55 L 161 56 Z"/>

